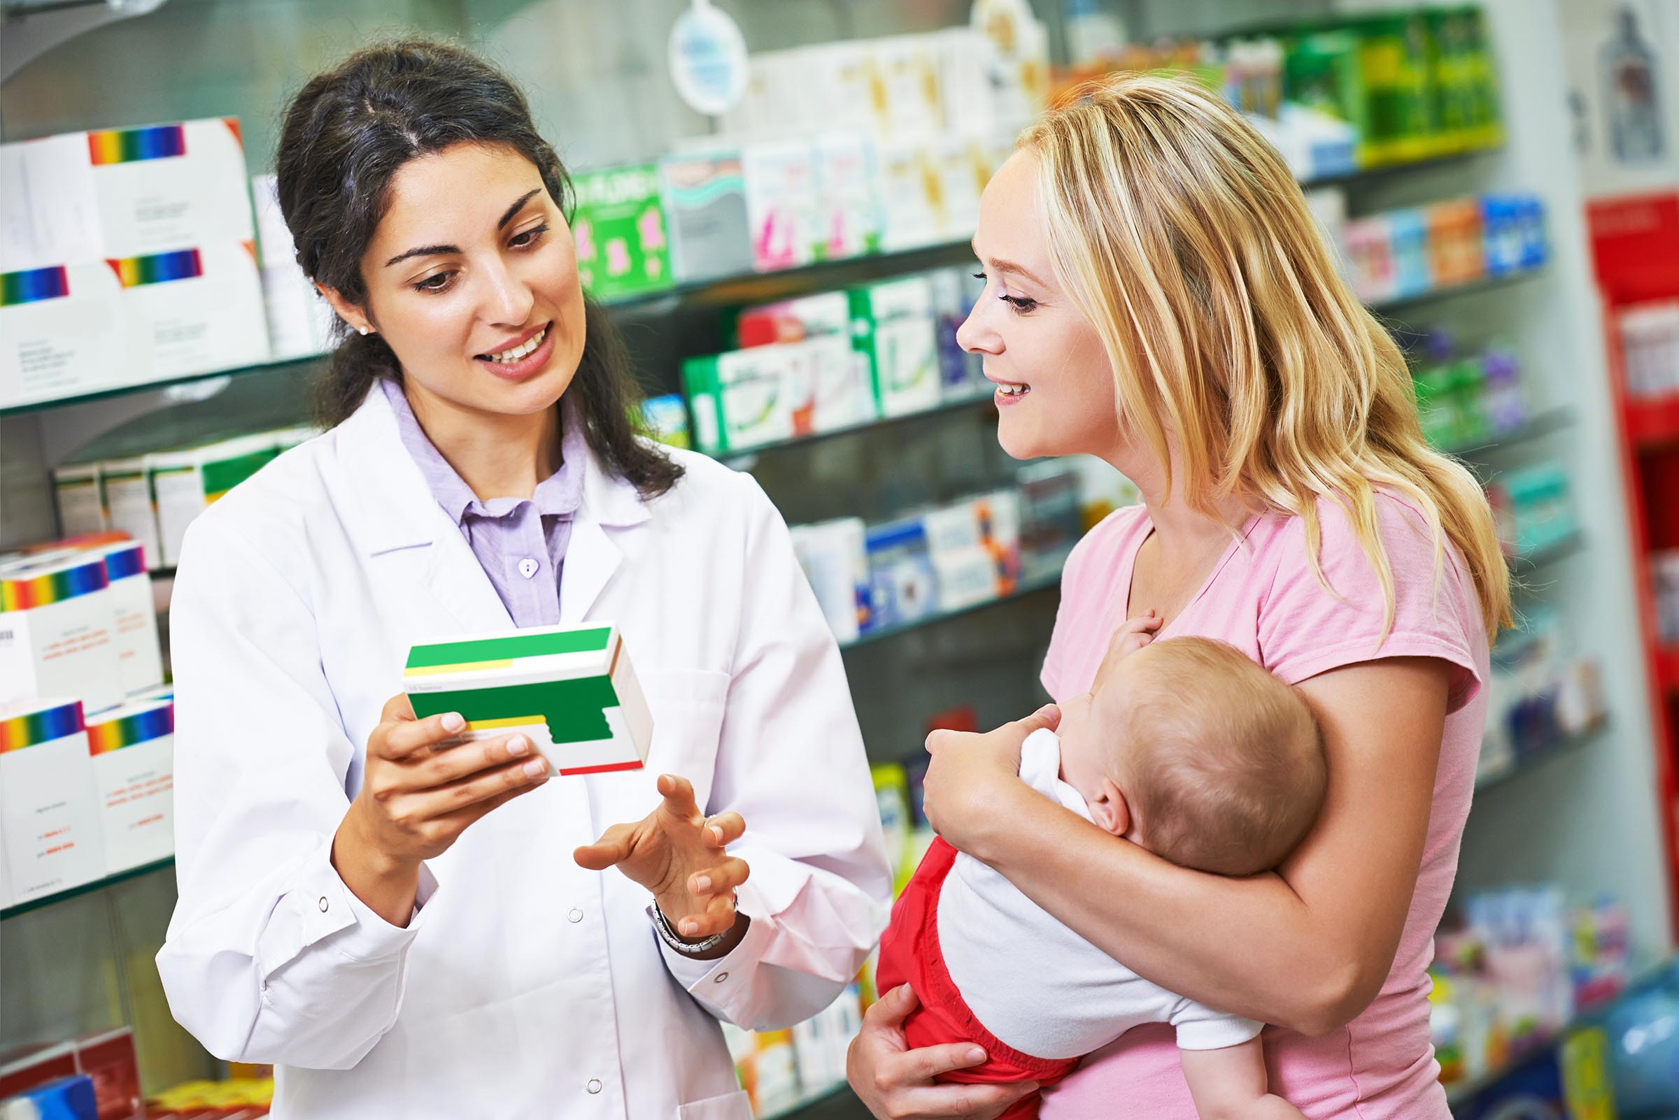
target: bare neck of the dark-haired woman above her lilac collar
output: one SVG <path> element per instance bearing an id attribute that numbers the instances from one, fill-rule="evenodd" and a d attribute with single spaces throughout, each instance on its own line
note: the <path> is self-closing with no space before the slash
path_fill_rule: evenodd
<path id="1" fill-rule="evenodd" d="M 426 439 L 480 501 L 529 498 L 559 469 L 559 407 L 531 416 L 482 412 L 411 382 L 403 386 L 403 396 Z"/>

